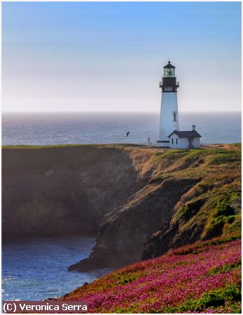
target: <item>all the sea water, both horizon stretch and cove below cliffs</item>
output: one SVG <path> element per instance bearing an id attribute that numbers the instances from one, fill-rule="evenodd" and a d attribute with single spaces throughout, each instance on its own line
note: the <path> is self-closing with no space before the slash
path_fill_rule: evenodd
<path id="1" fill-rule="evenodd" d="M 180 130 L 202 144 L 241 142 L 240 113 L 180 113 Z M 159 113 L 12 113 L 2 116 L 3 145 L 146 144 L 158 140 Z M 130 131 L 126 138 L 125 133 Z M 109 270 L 68 272 L 88 257 L 94 237 L 18 239 L 3 244 L 3 300 L 43 300 L 69 293 Z"/>

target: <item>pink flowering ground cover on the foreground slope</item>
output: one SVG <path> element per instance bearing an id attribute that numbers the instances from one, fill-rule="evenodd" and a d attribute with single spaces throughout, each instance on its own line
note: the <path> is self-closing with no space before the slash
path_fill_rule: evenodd
<path id="1" fill-rule="evenodd" d="M 200 241 L 118 269 L 62 300 L 90 313 L 240 313 L 241 241 Z"/>

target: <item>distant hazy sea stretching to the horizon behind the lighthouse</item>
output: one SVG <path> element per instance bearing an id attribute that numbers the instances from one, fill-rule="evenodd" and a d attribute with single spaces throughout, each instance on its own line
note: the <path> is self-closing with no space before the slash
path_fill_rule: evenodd
<path id="1" fill-rule="evenodd" d="M 241 141 L 241 113 L 179 113 L 179 120 L 180 130 L 196 125 L 203 144 Z M 158 126 L 159 113 L 4 114 L 2 144 L 145 144 L 158 140 Z"/>

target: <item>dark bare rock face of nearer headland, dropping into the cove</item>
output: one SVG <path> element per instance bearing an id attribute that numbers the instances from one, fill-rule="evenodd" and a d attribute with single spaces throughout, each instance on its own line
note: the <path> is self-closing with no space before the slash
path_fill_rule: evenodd
<path id="1" fill-rule="evenodd" d="M 106 214 L 90 258 L 69 267 L 80 271 L 121 267 L 141 260 L 144 243 L 172 218 L 174 206 L 199 179 L 166 179 L 147 185 L 118 211 Z"/>

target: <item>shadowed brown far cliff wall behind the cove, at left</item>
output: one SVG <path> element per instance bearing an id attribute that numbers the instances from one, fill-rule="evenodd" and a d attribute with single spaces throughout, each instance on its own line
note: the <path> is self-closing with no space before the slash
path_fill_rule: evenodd
<path id="1" fill-rule="evenodd" d="M 118 146 L 4 147 L 3 237 L 96 233 L 144 182 L 132 163 Z"/>

